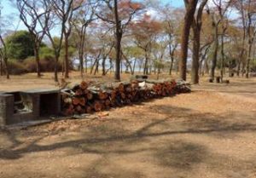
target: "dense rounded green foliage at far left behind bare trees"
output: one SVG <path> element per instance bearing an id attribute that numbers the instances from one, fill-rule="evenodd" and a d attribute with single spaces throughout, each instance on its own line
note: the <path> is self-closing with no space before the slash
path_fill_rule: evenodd
<path id="1" fill-rule="evenodd" d="M 25 60 L 34 55 L 32 37 L 26 31 L 18 31 L 7 37 L 6 46 L 10 59 Z"/>

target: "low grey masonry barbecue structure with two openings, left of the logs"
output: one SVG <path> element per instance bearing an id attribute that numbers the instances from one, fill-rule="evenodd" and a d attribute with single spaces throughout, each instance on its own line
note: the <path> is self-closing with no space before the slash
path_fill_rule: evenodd
<path id="1" fill-rule="evenodd" d="M 60 112 L 61 96 L 56 89 L 0 93 L 0 125 L 40 120 Z"/>

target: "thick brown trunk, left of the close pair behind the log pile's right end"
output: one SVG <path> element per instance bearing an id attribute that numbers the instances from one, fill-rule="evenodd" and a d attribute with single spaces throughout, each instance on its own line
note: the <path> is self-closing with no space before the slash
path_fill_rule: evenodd
<path id="1" fill-rule="evenodd" d="M 179 61 L 179 72 L 180 78 L 186 80 L 187 78 L 187 58 L 189 49 L 189 33 L 190 27 L 192 26 L 195 9 L 198 0 L 183 0 L 186 7 L 186 12 L 184 16 L 183 33 L 182 33 L 182 43 L 181 43 L 181 59 Z"/>

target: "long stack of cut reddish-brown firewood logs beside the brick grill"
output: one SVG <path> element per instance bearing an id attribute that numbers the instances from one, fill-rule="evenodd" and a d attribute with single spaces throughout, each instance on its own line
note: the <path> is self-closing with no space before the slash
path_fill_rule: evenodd
<path id="1" fill-rule="evenodd" d="M 101 112 L 143 100 L 189 92 L 189 83 L 174 80 L 133 80 L 120 83 L 81 82 L 61 90 L 63 115 Z"/>

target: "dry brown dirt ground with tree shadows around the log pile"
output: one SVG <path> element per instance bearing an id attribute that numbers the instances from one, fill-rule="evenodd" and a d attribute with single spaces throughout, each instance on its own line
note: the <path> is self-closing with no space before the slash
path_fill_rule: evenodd
<path id="1" fill-rule="evenodd" d="M 55 86 L 19 78 L 2 78 L 0 90 Z M 256 79 L 206 80 L 190 94 L 112 109 L 105 118 L 2 129 L 0 177 L 256 177 Z"/>

